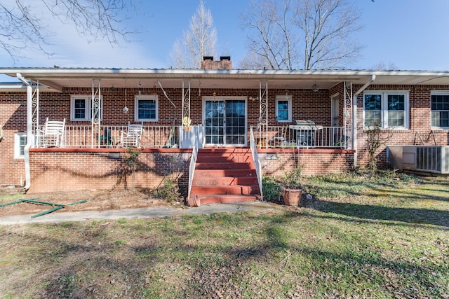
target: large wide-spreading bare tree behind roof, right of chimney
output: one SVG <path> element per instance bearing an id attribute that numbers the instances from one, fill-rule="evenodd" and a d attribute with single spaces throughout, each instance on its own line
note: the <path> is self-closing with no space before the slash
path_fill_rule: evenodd
<path id="1" fill-rule="evenodd" d="M 253 0 L 242 16 L 242 27 L 249 32 L 248 51 L 258 58 L 245 64 L 270 69 L 344 68 L 361 50 L 351 38 L 361 29 L 360 15 L 350 0 Z"/>

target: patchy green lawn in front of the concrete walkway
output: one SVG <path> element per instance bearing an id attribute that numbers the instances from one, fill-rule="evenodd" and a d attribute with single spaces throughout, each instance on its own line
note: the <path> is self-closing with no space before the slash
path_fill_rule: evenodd
<path id="1" fill-rule="evenodd" d="M 308 178 L 298 208 L 2 226 L 0 298 L 449 298 L 448 178 L 389 176 Z"/>

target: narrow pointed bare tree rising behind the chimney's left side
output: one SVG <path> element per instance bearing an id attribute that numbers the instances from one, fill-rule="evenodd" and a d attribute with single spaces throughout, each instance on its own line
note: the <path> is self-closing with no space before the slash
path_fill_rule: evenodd
<path id="1" fill-rule="evenodd" d="M 182 40 L 177 39 L 170 53 L 175 68 L 200 68 L 203 56 L 213 56 L 217 49 L 217 31 L 213 25 L 212 13 L 200 0 L 196 13 L 190 20 L 189 31 Z"/>

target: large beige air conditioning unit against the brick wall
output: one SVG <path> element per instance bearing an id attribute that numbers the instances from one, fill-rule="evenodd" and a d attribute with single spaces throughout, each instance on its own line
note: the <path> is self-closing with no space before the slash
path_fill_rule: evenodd
<path id="1" fill-rule="evenodd" d="M 449 146 L 388 146 L 387 164 L 400 171 L 449 174 Z"/>

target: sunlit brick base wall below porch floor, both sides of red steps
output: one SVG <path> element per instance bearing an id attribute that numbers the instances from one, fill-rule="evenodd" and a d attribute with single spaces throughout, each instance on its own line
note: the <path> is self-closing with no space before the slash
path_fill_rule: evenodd
<path id="1" fill-rule="evenodd" d="M 281 177 L 295 161 L 304 167 L 304 175 L 342 172 L 351 168 L 352 151 L 283 150 L 276 159 L 267 159 L 273 150 L 262 150 L 260 160 L 265 175 Z M 32 149 L 30 152 L 32 186 L 28 193 L 68 190 L 112 189 L 121 174 L 125 150 L 114 150 L 112 157 L 105 149 Z M 179 149 L 142 150 L 134 176 L 127 176 L 128 187 L 156 188 L 164 178 L 179 179 L 181 190 L 187 190 L 190 151 Z M 119 188 L 123 188 L 123 183 Z M 186 192 L 187 193 L 187 192 Z"/>

